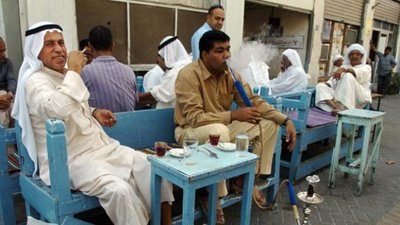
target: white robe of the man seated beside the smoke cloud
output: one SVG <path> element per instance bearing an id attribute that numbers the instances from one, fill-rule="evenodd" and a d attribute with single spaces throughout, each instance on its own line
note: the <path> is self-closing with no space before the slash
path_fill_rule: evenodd
<path id="1" fill-rule="evenodd" d="M 303 68 L 290 66 L 277 78 L 268 84 L 270 94 L 281 94 L 293 91 L 306 90 L 308 77 Z"/>

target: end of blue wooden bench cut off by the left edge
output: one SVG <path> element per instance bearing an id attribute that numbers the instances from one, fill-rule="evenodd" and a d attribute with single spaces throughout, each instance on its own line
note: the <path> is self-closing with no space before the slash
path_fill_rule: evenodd
<path id="1" fill-rule="evenodd" d="M 7 145 L 15 144 L 15 129 L 0 127 L 0 225 L 16 224 L 13 195 L 20 191 L 18 172 L 10 172 Z"/>

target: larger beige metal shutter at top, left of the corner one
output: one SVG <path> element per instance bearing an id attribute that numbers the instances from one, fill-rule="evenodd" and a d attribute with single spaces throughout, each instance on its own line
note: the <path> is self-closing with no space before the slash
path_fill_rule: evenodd
<path id="1" fill-rule="evenodd" d="M 363 0 L 325 0 L 325 19 L 359 26 L 363 5 Z"/>

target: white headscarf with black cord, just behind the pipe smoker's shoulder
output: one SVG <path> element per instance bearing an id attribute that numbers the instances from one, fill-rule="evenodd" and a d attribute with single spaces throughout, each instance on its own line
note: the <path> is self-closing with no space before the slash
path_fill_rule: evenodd
<path id="1" fill-rule="evenodd" d="M 169 41 L 172 42 L 167 43 Z M 166 45 L 162 47 L 164 43 Z M 192 61 L 181 41 L 173 36 L 167 36 L 160 42 L 158 54 L 163 57 L 168 68 L 185 65 Z"/>

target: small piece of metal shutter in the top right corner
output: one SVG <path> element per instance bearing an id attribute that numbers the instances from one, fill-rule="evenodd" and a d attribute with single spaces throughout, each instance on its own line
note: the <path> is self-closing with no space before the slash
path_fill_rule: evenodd
<path id="1" fill-rule="evenodd" d="M 392 0 L 377 0 L 375 4 L 374 19 L 399 24 L 400 3 Z"/>

